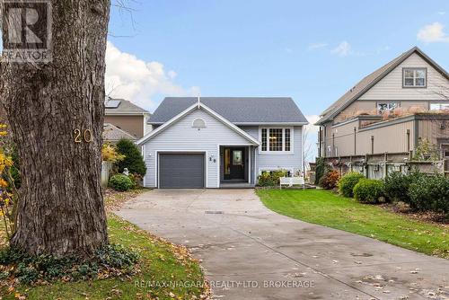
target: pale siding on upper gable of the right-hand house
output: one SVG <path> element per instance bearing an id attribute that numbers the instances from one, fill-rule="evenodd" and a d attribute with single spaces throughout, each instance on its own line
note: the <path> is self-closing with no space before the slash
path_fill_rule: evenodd
<path id="1" fill-rule="evenodd" d="M 427 67 L 427 88 L 402 88 L 403 67 Z M 397 66 L 389 75 L 375 84 L 362 95 L 360 100 L 440 100 L 441 86 L 449 88 L 449 82 L 443 75 L 430 66 L 426 60 L 414 53 L 400 66 Z"/>

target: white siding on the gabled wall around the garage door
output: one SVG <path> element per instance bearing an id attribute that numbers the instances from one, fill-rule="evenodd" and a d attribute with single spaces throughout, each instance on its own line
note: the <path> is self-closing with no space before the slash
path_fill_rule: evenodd
<path id="1" fill-rule="evenodd" d="M 201 118 L 206 121 L 207 128 L 192 128 L 194 119 Z M 184 118 L 152 137 L 145 143 L 145 187 L 157 186 L 155 160 L 156 151 L 198 151 L 207 152 L 207 188 L 218 188 L 218 163 L 220 154 L 218 145 L 250 145 L 246 138 L 233 129 L 228 128 L 221 121 L 204 110 L 194 110 Z M 209 161 L 213 157 L 216 162 Z"/>

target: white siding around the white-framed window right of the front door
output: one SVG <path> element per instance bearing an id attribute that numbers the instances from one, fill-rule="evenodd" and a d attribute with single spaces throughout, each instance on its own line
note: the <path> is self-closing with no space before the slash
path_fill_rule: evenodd
<path id="1" fill-rule="evenodd" d="M 248 132 L 252 137 L 261 142 L 259 137 L 258 126 L 241 127 Z M 260 170 L 269 169 L 293 169 L 293 172 L 303 170 L 303 127 L 295 126 L 293 133 L 293 154 L 259 154 L 256 149 L 256 172 L 259 174 Z"/>

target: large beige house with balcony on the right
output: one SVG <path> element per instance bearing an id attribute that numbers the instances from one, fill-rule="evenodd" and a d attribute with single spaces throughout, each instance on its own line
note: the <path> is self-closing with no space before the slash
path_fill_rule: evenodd
<path id="1" fill-rule="evenodd" d="M 412 157 L 419 138 L 449 156 L 448 91 L 445 69 L 420 49 L 410 49 L 322 112 L 316 124 L 319 156 L 354 163 L 366 154 L 386 153 L 404 161 Z"/>

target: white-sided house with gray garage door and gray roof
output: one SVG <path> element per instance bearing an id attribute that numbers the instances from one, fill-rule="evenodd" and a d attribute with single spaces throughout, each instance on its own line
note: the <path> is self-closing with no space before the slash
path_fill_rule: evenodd
<path id="1" fill-rule="evenodd" d="M 303 127 L 291 98 L 165 98 L 137 141 L 145 187 L 254 186 L 265 171 L 303 171 Z"/>

